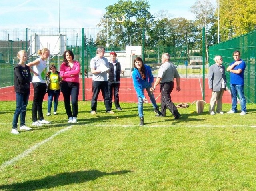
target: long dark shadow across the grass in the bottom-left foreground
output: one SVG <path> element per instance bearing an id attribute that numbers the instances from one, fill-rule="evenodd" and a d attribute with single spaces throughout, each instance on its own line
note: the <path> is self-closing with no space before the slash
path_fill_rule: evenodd
<path id="1" fill-rule="evenodd" d="M 47 176 L 38 180 L 29 180 L 22 183 L 14 183 L 10 185 L 0 185 L 0 189 L 6 189 L 8 191 L 14 190 L 38 190 L 38 189 L 50 189 L 58 186 L 84 183 L 92 181 L 102 176 L 108 175 L 122 175 L 131 173 L 130 170 L 122 170 L 111 173 L 101 172 L 98 170 L 78 171 L 78 172 L 65 172 L 56 175 Z"/>

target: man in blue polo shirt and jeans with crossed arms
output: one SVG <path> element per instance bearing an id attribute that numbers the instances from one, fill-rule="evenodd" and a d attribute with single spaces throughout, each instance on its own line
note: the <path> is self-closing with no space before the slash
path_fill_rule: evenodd
<path id="1" fill-rule="evenodd" d="M 240 59 L 240 51 L 233 52 L 234 62 L 228 66 L 227 71 L 230 71 L 230 91 L 232 98 L 232 109 L 227 113 L 237 113 L 237 94 L 241 103 L 240 115 L 246 114 L 246 99 L 244 97 L 244 70 L 246 64 Z"/>

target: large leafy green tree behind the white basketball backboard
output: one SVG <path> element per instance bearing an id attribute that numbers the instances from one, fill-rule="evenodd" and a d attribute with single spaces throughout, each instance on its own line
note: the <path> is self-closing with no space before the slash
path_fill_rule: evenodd
<path id="1" fill-rule="evenodd" d="M 142 44 L 142 29 L 149 30 L 153 16 L 149 12 L 150 5 L 146 0 L 118 0 L 114 5 L 106 7 L 107 18 L 102 18 L 98 26 L 108 28 L 110 44 L 126 46 L 130 44 L 130 36 L 134 34 L 137 45 Z M 117 18 L 124 16 L 124 22 L 117 22 Z M 101 35 L 101 37 L 103 37 Z M 105 38 L 106 39 L 106 38 Z M 114 40 L 113 40 L 114 39 Z"/>

